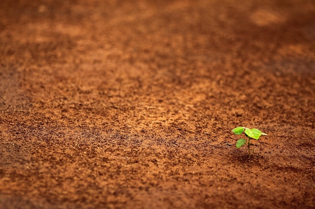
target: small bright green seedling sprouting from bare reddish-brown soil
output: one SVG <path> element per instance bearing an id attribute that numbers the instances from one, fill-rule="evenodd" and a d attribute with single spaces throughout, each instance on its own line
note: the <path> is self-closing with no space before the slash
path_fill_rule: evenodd
<path id="1" fill-rule="evenodd" d="M 251 139 L 256 139 L 258 140 L 260 136 L 268 136 L 267 134 L 261 132 L 257 128 L 246 128 L 246 127 L 236 127 L 232 130 L 232 132 L 236 135 L 241 135 L 243 132 L 245 132 L 245 135 L 248 137 L 247 139 L 241 138 L 237 141 L 236 147 L 240 148 L 244 144 L 248 146 L 248 157 L 251 157 Z M 247 142 L 247 143 L 246 143 Z"/>

